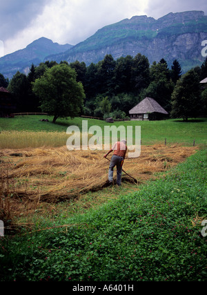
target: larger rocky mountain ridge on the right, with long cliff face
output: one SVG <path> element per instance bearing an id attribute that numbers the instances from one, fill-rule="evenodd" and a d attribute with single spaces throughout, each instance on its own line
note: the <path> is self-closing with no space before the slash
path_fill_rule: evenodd
<path id="1" fill-rule="evenodd" d="M 146 55 L 150 64 L 166 59 L 168 64 L 177 59 L 183 71 L 200 66 L 201 41 L 207 39 L 207 17 L 202 11 L 170 12 L 159 19 L 135 16 L 98 30 L 85 41 L 65 53 L 50 55 L 45 60 L 84 61 L 88 66 L 105 55 L 114 59 L 137 53 Z"/>

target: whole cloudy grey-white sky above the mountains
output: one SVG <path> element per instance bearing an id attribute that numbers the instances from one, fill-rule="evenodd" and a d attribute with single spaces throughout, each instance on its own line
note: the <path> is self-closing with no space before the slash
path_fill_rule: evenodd
<path id="1" fill-rule="evenodd" d="M 99 28 L 147 15 L 202 10 L 206 0 L 0 0 L 0 56 L 25 48 L 40 37 L 78 44 Z"/>

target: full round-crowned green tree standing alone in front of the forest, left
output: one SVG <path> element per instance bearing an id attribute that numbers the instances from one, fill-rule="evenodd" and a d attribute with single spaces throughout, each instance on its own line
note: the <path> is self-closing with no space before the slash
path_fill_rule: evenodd
<path id="1" fill-rule="evenodd" d="M 83 85 L 76 81 L 77 73 L 66 64 L 48 68 L 33 84 L 34 94 L 41 100 L 41 110 L 58 117 L 79 115 L 85 97 Z"/>

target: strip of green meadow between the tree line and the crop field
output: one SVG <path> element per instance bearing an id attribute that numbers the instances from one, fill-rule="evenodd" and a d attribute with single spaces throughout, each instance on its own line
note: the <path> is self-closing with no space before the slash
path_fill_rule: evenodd
<path id="1" fill-rule="evenodd" d="M 40 122 L 40 119 L 48 119 L 49 122 Z M 0 140 L 3 142 L 3 132 L 2 131 L 32 131 L 36 132 L 36 137 L 38 137 L 39 131 L 44 131 L 47 133 L 59 132 L 66 135 L 66 130 L 68 126 L 75 125 L 78 126 L 80 131 L 82 131 L 82 121 L 86 120 L 81 117 L 76 117 L 73 120 L 57 120 L 56 124 L 52 123 L 52 117 L 41 116 L 41 115 L 26 115 L 17 116 L 14 118 L 0 118 Z M 164 143 L 165 139 L 167 143 L 179 143 L 185 145 L 195 144 L 206 144 L 207 135 L 207 119 L 199 118 L 199 120 L 191 119 L 189 122 L 183 122 L 183 120 L 166 120 L 166 121 L 128 121 L 128 122 L 115 122 L 113 124 L 106 123 L 102 120 L 87 119 L 88 129 L 90 126 L 101 126 L 102 134 L 104 135 L 104 126 L 141 126 L 141 144 L 155 144 Z M 8 133 L 7 133 L 8 134 Z M 11 134 L 11 133 L 10 133 Z M 56 142 L 55 146 L 60 146 L 65 144 L 67 136 L 63 135 L 63 140 Z M 15 135 L 17 139 L 17 134 Z M 32 134 L 34 137 L 34 134 Z M 135 136 L 135 135 L 134 135 Z M 12 136 L 14 137 L 14 136 Z M 30 137 L 30 135 L 29 135 Z M 14 138 L 12 140 L 14 142 Z M 38 140 L 37 140 L 38 142 Z M 42 142 L 40 140 L 39 146 L 45 145 L 47 142 Z M 8 142 L 8 148 L 12 148 L 12 143 Z M 50 145 L 50 144 L 48 144 Z M 36 143 L 35 146 L 38 146 Z M 21 146 L 19 146 L 21 147 Z M 25 147 L 25 145 L 23 146 Z M 0 146 L 2 149 L 3 146 Z"/>

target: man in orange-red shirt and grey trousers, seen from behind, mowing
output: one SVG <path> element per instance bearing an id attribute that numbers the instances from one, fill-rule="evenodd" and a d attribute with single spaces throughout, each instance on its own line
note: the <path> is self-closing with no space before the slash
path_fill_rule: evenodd
<path id="1" fill-rule="evenodd" d="M 103 155 L 103 158 L 106 158 L 109 153 L 114 151 L 112 158 L 110 160 L 110 166 L 108 170 L 108 180 L 110 183 L 113 181 L 113 172 L 114 167 L 117 166 L 117 185 L 121 185 L 121 172 L 122 172 L 122 165 L 126 157 L 126 140 L 121 140 L 121 142 L 116 142 L 115 145 L 106 153 L 106 155 Z"/>

